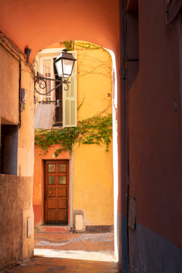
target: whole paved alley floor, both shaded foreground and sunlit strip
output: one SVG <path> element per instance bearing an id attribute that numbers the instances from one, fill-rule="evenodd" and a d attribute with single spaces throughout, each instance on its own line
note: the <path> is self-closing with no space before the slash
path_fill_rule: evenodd
<path id="1" fill-rule="evenodd" d="M 4 273 L 121 273 L 114 234 L 34 234 L 34 257 Z"/>

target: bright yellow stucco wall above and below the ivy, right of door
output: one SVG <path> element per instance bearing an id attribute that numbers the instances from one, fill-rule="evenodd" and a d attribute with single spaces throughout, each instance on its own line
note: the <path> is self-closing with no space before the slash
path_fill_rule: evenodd
<path id="1" fill-rule="evenodd" d="M 76 41 L 77 43 L 77 41 Z M 86 46 L 86 45 L 85 45 Z M 103 49 L 77 50 L 78 120 L 107 109 L 112 112 L 112 59 Z M 103 113 L 103 115 L 106 114 Z M 84 225 L 113 225 L 113 151 L 97 145 L 74 146 L 73 209 L 84 213 Z"/>

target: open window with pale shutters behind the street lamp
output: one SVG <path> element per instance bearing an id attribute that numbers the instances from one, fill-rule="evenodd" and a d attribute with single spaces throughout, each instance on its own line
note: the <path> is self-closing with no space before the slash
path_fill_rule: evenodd
<path id="1" fill-rule="evenodd" d="M 57 70 L 53 61 L 62 49 L 47 49 L 40 53 L 40 67 L 38 68 L 41 74 L 47 78 L 59 79 Z M 70 51 L 74 58 L 77 59 L 77 51 Z M 47 86 L 41 90 L 41 93 L 47 93 L 49 90 L 59 85 L 53 81 L 46 81 Z M 40 95 L 39 101 L 47 103 L 55 103 L 59 100 L 59 106 L 55 107 L 53 115 L 53 127 L 75 127 L 77 126 L 77 61 L 74 64 L 71 77 L 69 77 L 69 89 L 66 91 L 66 85 L 60 85 L 54 91 L 47 95 Z"/>

